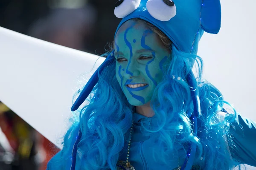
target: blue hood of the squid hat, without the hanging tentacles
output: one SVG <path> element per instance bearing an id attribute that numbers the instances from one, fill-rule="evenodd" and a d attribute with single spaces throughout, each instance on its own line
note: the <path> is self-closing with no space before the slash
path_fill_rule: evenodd
<path id="1" fill-rule="evenodd" d="M 125 0 L 120 1 L 125 3 Z M 136 0 L 129 1 L 132 3 Z M 219 0 L 137 1 L 140 2 L 140 5 L 137 8 L 135 6 L 135 11 L 122 19 L 116 32 L 127 20 L 140 18 L 163 31 L 178 50 L 197 54 L 198 42 L 203 32 L 217 34 L 221 27 L 221 4 Z M 169 5 L 174 4 L 174 6 L 168 5 L 170 1 L 173 3 Z M 124 11 L 123 8 L 129 6 L 129 4 L 122 6 L 122 3 L 116 7 L 121 8 L 120 11 Z M 116 15 L 119 17 L 118 14 Z"/>

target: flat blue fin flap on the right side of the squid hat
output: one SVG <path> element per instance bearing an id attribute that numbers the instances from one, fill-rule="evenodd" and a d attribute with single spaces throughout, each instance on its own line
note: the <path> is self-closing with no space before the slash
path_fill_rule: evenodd
<path id="1" fill-rule="evenodd" d="M 201 8 L 201 27 L 205 32 L 218 34 L 221 28 L 220 0 L 204 0 Z"/>

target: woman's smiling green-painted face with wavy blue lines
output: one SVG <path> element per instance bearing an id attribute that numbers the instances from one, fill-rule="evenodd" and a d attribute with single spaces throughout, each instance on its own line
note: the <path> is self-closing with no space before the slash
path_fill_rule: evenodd
<path id="1" fill-rule="evenodd" d="M 116 79 L 131 105 L 151 101 L 169 55 L 157 34 L 143 23 L 129 20 L 119 28 L 115 37 Z"/>

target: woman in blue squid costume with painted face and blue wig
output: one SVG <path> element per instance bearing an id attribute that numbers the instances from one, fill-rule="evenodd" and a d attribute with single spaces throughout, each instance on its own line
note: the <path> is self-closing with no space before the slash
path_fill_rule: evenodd
<path id="1" fill-rule="evenodd" d="M 238 157 L 253 144 L 234 130 L 233 140 L 230 123 L 239 125 L 241 117 L 236 111 L 226 114 L 221 93 L 201 80 L 198 42 L 204 31 L 218 33 L 219 1 L 119 0 L 115 14 L 123 20 L 114 49 L 73 105 L 75 111 L 93 90 L 80 122 L 68 130 L 63 150 L 48 169 L 227 170 L 239 163 L 256 165 L 253 149 Z M 255 134 L 255 123 L 249 123 L 248 132 Z"/>

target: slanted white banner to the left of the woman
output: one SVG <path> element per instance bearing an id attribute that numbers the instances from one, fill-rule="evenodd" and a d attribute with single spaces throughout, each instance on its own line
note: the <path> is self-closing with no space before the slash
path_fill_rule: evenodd
<path id="1" fill-rule="evenodd" d="M 68 126 L 77 79 L 97 59 L 0 28 L 0 101 L 61 147 L 58 140 Z M 98 59 L 91 73 L 104 59 Z"/>

